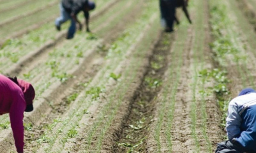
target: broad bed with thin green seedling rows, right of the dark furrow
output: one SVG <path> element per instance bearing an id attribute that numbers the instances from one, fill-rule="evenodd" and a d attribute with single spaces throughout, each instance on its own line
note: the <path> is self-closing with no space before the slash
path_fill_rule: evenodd
<path id="1" fill-rule="evenodd" d="M 206 82 L 199 74 L 203 69 L 212 67 L 211 60 L 208 60 L 211 58 L 210 50 L 207 48 L 208 16 L 203 13 L 207 12 L 207 2 L 195 1 L 190 6 L 193 27 L 184 23 L 179 26 L 172 45 L 170 67 L 157 97 L 157 120 L 152 126 L 156 152 L 213 150 L 213 140 L 209 138 L 207 102 L 214 95 L 212 92 L 207 95 L 204 93 L 209 87 L 212 88 L 213 80 Z"/>

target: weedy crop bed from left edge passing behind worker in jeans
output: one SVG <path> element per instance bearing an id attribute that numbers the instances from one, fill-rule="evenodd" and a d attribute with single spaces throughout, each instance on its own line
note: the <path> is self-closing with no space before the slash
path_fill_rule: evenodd
<path id="1" fill-rule="evenodd" d="M 103 1 L 99 1 L 97 10 L 93 13 L 98 13 L 107 5 Z M 92 14 L 93 14 L 92 13 Z M 108 14 L 106 14 L 108 15 Z M 107 17 L 104 15 L 104 17 Z M 107 18 L 101 18 L 106 21 Z M 100 20 L 93 21 L 91 26 L 99 26 Z M 102 22 L 103 23 L 103 22 Z M 68 23 L 62 25 L 62 29 L 65 30 L 68 27 Z M 93 30 L 93 29 L 92 29 Z M 0 67 L 1 72 L 6 73 L 7 67 L 14 65 L 22 60 L 22 57 L 29 56 L 29 54 L 35 52 L 38 48 L 43 48 L 49 41 L 56 41 L 58 32 L 52 23 L 44 24 L 39 29 L 31 31 L 29 34 L 22 36 L 21 38 L 10 39 L 0 49 Z"/>

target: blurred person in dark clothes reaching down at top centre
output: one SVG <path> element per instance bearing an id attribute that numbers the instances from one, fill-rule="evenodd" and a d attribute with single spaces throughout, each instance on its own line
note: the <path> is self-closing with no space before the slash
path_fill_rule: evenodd
<path id="1" fill-rule="evenodd" d="M 161 23 L 166 32 L 173 31 L 174 21 L 180 23 L 176 17 L 177 7 L 182 7 L 189 23 L 192 23 L 187 10 L 188 0 L 160 0 Z"/>

